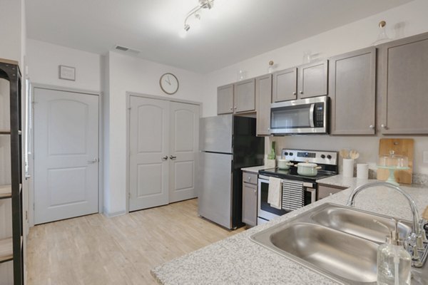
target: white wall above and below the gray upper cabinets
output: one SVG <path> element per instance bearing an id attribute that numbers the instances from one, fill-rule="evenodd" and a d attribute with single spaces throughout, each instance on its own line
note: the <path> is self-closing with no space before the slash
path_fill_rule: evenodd
<path id="1" fill-rule="evenodd" d="M 216 89 L 228 83 L 237 81 L 239 70 L 247 71 L 248 78 L 267 73 L 270 60 L 277 65 L 276 70 L 302 64 L 304 51 L 320 53 L 320 57 L 329 57 L 371 46 L 377 38 L 377 24 L 380 20 L 387 21 L 387 34 L 390 38 L 402 38 L 428 31 L 428 1 L 415 0 L 380 14 L 370 16 L 360 21 L 335 28 L 317 36 L 306 38 L 289 46 L 283 46 L 274 51 L 249 58 L 246 61 L 222 68 L 207 76 L 207 88 L 204 93 L 204 116 L 215 115 Z M 379 130 L 379 129 L 378 129 Z M 282 147 L 306 148 L 310 150 L 340 150 L 354 148 L 361 152 L 358 162 L 376 162 L 379 149 L 379 138 L 382 135 L 370 137 L 332 137 L 328 135 L 276 137 L 277 153 Z M 412 138 L 412 137 L 407 137 Z M 271 139 L 266 140 L 267 149 Z M 428 164 L 422 162 L 422 151 L 428 150 L 428 138 L 414 137 L 414 172 L 428 174 Z"/>

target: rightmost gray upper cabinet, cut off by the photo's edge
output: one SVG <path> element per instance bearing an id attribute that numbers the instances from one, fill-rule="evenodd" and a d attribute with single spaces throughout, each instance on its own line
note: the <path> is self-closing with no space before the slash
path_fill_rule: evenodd
<path id="1" fill-rule="evenodd" d="M 379 48 L 381 130 L 384 134 L 428 134 L 428 33 Z"/>

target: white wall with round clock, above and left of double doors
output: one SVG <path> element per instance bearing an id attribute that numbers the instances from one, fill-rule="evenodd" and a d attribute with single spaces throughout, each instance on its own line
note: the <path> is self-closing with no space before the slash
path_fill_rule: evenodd
<path id="1" fill-rule="evenodd" d="M 132 58 L 121 53 L 108 53 L 109 126 L 105 143 L 109 165 L 105 168 L 105 212 L 121 214 L 126 209 L 126 92 L 159 95 L 200 102 L 205 77 L 198 73 L 165 66 L 153 61 Z M 180 81 L 174 95 L 165 95 L 159 86 L 163 73 L 173 73 Z M 108 175 L 110 174 L 110 175 Z"/>

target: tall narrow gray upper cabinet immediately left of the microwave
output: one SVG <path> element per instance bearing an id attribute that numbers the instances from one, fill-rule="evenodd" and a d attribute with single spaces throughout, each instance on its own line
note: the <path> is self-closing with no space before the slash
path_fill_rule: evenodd
<path id="1" fill-rule="evenodd" d="M 270 103 L 272 103 L 272 74 L 255 78 L 257 100 L 257 135 L 270 135 Z"/>

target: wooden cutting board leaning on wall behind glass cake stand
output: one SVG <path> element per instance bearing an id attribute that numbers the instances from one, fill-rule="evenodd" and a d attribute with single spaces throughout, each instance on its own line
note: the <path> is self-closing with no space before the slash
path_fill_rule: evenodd
<path id="1" fill-rule="evenodd" d="M 395 180 L 399 183 L 412 184 L 413 173 L 413 147 L 412 138 L 381 138 L 379 140 L 379 157 L 389 155 L 389 150 L 394 150 L 396 155 L 405 155 L 409 157 L 409 170 L 396 170 L 394 173 Z M 377 169 L 377 180 L 387 180 L 389 170 Z"/>

